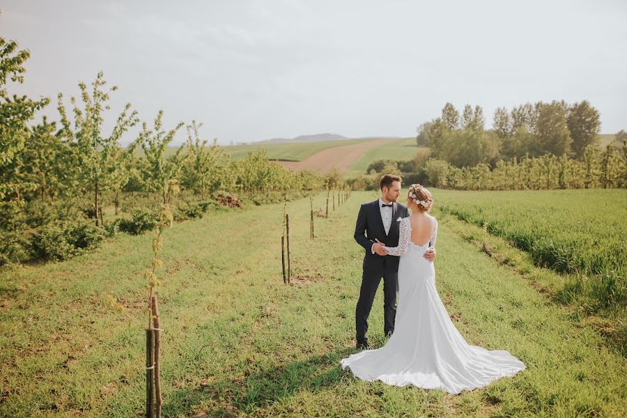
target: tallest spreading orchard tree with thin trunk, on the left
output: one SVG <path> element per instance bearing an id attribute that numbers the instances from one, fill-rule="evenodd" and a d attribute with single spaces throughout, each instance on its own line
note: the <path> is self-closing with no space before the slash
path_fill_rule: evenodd
<path id="1" fill-rule="evenodd" d="M 67 111 L 65 111 L 62 93 L 59 93 L 58 96 L 58 109 L 63 125 L 61 135 L 69 143 L 75 144 L 73 150 L 75 151 L 79 181 L 85 189 L 91 189 L 93 192 L 93 216 L 98 225 L 102 220 L 100 196 L 102 192 L 111 189 L 119 181 L 118 170 L 121 169 L 119 160 L 120 139 L 130 127 L 139 122 L 139 119 L 137 118 L 137 111 L 130 111 L 131 104 L 127 103 L 118 116 L 111 134 L 108 137 L 103 137 L 103 112 L 111 109 L 107 104 L 109 93 L 116 91 L 117 86 L 106 90 L 107 82 L 104 81 L 102 71 L 98 72 L 98 76 L 91 86 L 90 94 L 86 84 L 79 83 L 83 109 L 77 104 L 76 98 L 70 98 L 74 113 L 73 127 L 70 124 Z"/>

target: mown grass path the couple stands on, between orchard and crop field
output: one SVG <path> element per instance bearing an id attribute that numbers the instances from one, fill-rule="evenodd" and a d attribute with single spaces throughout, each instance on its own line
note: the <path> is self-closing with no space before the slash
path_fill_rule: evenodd
<path id="1" fill-rule="evenodd" d="M 467 341 L 527 364 L 513 378 L 452 396 L 355 380 L 362 249 L 354 192 L 316 218 L 290 203 L 293 282 L 281 279 L 282 205 L 217 212 L 165 233 L 162 288 L 164 415 L 620 416 L 627 366 L 592 327 L 482 253 L 439 216 L 436 281 Z M 324 196 L 316 198 L 323 206 Z M 85 256 L 0 272 L 0 416 L 140 417 L 144 404 L 143 272 L 152 236 L 121 235 Z M 297 284 L 301 282 L 301 284 Z M 138 325 L 103 300 L 120 298 Z M 401 301 L 402 303 L 402 301 Z M 382 295 L 370 336 L 382 336 Z"/>

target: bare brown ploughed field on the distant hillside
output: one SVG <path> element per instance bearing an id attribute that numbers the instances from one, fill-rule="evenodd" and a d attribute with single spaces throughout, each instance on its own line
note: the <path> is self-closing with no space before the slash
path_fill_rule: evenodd
<path id="1" fill-rule="evenodd" d="M 392 142 L 389 139 L 369 139 L 359 144 L 334 146 L 318 151 L 302 161 L 277 161 L 286 169 L 302 170 L 314 169 L 322 173 L 338 168 L 340 171 L 347 171 L 357 158 L 361 157 L 367 150 L 376 146 L 382 146 Z"/>

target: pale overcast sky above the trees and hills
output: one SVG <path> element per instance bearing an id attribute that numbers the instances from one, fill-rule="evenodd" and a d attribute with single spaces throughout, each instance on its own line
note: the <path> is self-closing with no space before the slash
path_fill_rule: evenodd
<path id="1" fill-rule="evenodd" d="M 627 129 L 627 1 L 0 1 L 0 36 L 30 49 L 15 93 L 77 95 L 99 70 L 166 127 L 219 143 L 330 132 L 415 135 L 480 104 L 589 100 Z M 69 105 L 69 102 L 68 102 Z M 127 137 L 125 143 L 132 138 Z M 184 140 L 179 135 L 178 142 Z"/>

